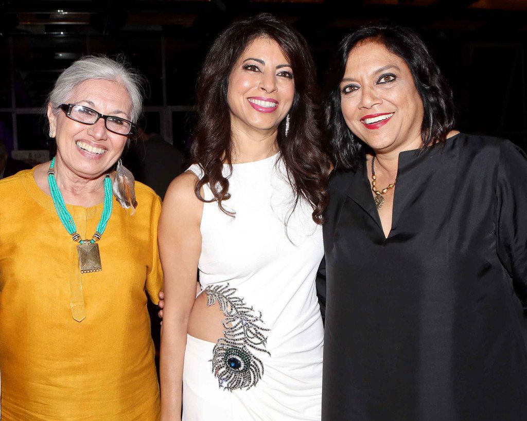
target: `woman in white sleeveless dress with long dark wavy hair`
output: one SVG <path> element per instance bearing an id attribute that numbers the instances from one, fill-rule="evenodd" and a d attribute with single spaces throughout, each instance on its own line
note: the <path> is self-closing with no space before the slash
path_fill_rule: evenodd
<path id="1" fill-rule="evenodd" d="M 231 25 L 205 59 L 194 165 L 160 219 L 162 420 L 320 419 L 316 99 L 304 38 L 271 15 Z"/>

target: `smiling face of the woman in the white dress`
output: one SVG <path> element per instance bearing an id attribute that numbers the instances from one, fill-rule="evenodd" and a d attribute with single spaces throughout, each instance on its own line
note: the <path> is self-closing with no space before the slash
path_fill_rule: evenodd
<path id="1" fill-rule="evenodd" d="M 295 97 L 291 64 L 280 46 L 257 38 L 240 55 L 229 75 L 227 103 L 233 132 L 275 132 Z"/>

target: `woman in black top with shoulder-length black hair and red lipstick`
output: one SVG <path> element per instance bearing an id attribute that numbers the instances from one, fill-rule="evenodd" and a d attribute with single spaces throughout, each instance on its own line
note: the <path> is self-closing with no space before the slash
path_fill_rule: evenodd
<path id="1" fill-rule="evenodd" d="M 525 419 L 525 154 L 452 130 L 408 29 L 359 29 L 331 74 L 323 420 Z"/>

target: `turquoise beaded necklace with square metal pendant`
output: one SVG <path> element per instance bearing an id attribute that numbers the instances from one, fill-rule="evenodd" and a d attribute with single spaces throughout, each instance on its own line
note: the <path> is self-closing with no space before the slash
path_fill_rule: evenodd
<path id="1" fill-rule="evenodd" d="M 97 241 L 101 239 L 101 236 L 106 229 L 106 224 L 112 215 L 112 179 L 109 174 L 106 174 L 104 178 L 104 206 L 101 215 L 101 220 L 95 234 L 92 239 L 81 239 L 80 234 L 77 233 L 77 226 L 71 216 L 70 212 L 66 208 L 64 198 L 62 197 L 60 189 L 58 189 L 57 182 L 55 180 L 55 157 L 51 160 L 50 169 L 47 171 L 47 182 L 50 185 L 51 198 L 53 204 L 60 218 L 62 225 L 66 228 L 68 234 L 73 238 L 74 242 L 78 242 L 77 252 L 79 253 L 79 266 L 81 273 L 99 272 L 102 270 L 101 266 L 101 255 L 99 253 L 99 245 Z"/>

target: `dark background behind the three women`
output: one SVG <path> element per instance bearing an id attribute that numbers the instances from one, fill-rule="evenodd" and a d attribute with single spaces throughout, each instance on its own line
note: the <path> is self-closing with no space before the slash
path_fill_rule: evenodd
<path id="1" fill-rule="evenodd" d="M 340 39 L 360 25 L 416 29 L 454 89 L 456 128 L 527 149 L 527 0 L 0 0 L 0 142 L 46 149 L 41 111 L 58 74 L 86 54 L 124 53 L 149 82 L 141 125 L 186 152 L 208 47 L 233 20 L 259 12 L 307 38 L 320 82 Z"/>

